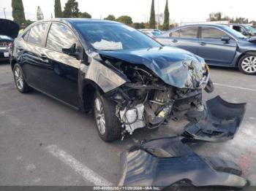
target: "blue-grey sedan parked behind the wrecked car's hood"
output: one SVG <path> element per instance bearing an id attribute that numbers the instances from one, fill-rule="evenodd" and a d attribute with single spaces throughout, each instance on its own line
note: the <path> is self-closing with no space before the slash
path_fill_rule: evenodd
<path id="1" fill-rule="evenodd" d="M 209 65 L 238 67 L 244 74 L 256 74 L 256 38 L 246 38 L 228 26 L 180 26 L 157 36 L 157 41 L 189 50 Z"/>

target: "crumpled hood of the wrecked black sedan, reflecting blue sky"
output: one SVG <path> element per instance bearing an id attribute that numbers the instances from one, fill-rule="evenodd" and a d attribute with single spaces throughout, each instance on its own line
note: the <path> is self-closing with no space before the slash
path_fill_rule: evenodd
<path id="1" fill-rule="evenodd" d="M 178 88 L 200 87 L 206 73 L 203 58 L 176 47 L 99 51 L 99 54 L 131 64 L 144 65 L 165 83 Z"/>

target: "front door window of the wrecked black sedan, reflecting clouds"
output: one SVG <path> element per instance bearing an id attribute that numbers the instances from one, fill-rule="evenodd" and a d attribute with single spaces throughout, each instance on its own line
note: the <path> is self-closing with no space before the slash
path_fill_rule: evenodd
<path id="1" fill-rule="evenodd" d="M 77 39 L 67 26 L 59 23 L 52 23 L 48 34 L 46 47 L 61 51 L 62 48 L 69 48 L 76 42 Z"/>

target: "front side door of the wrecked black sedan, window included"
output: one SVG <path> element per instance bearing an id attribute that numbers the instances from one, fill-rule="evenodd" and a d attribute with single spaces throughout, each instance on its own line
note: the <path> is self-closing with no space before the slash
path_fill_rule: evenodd
<path id="1" fill-rule="evenodd" d="M 62 49 L 75 44 L 77 55 L 68 55 Z M 42 90 L 59 101 L 80 107 L 78 94 L 78 71 L 83 48 L 69 26 L 64 23 L 51 23 L 42 51 L 47 67 L 40 69 Z"/>

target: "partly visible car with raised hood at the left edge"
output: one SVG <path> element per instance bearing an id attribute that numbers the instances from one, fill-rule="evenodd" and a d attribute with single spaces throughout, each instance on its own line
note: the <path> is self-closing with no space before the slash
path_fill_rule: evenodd
<path id="1" fill-rule="evenodd" d="M 0 60 L 7 60 L 12 40 L 17 36 L 19 26 L 7 19 L 0 19 L 0 26 Z"/>

